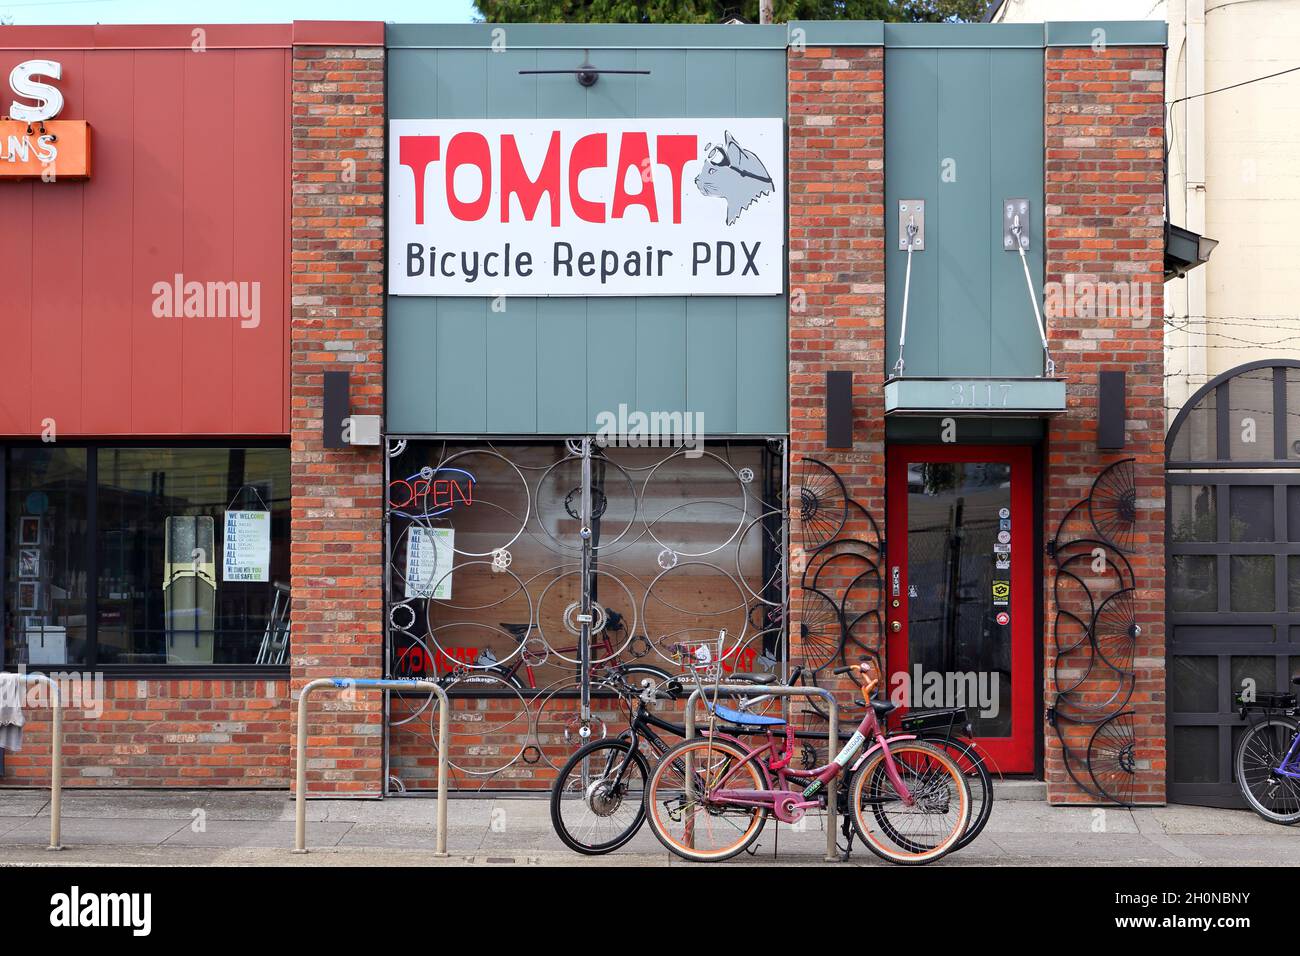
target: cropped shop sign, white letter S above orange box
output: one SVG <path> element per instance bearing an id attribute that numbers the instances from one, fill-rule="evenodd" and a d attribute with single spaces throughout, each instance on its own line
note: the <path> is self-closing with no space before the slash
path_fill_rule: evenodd
<path id="1" fill-rule="evenodd" d="M 64 95 L 44 81 L 61 78 L 62 65 L 53 60 L 23 60 L 9 72 L 9 88 L 21 99 L 0 118 L 0 179 L 55 182 L 90 176 L 90 124 L 55 120 Z"/>

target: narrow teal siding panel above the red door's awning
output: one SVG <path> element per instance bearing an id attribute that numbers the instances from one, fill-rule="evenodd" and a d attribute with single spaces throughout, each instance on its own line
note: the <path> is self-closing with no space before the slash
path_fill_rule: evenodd
<path id="1" fill-rule="evenodd" d="M 963 33 L 979 39 L 956 35 Z M 887 43 L 892 35 L 887 25 Z M 923 35 L 909 29 L 898 38 L 919 44 Z M 898 358 L 907 263 L 898 251 L 897 204 L 924 199 L 926 250 L 913 252 L 906 375 L 1043 373 L 1020 258 L 1002 250 L 1001 202 L 1009 198 L 1031 202 L 1028 260 L 1041 306 L 1041 48 L 887 47 L 888 368 Z"/>

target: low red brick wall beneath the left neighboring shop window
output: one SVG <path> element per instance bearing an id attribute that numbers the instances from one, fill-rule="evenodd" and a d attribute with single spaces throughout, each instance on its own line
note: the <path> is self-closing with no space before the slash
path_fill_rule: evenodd
<path id="1" fill-rule="evenodd" d="M 289 786 L 285 680 L 105 680 L 103 697 L 69 685 L 73 693 L 91 706 L 64 709 L 65 787 Z M 32 708 L 26 719 L 22 750 L 5 753 L 4 782 L 46 787 L 49 710 Z"/>

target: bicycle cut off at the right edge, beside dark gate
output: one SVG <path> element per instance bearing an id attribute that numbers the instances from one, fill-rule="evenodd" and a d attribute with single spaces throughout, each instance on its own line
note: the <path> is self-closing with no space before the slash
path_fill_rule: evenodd
<path id="1" fill-rule="evenodd" d="M 1300 676 L 1292 680 L 1300 684 Z M 1271 823 L 1300 823 L 1300 708 L 1294 693 L 1236 698 L 1251 727 L 1238 741 L 1236 783 L 1251 808 Z M 1256 711 L 1262 715 L 1256 718 Z"/>

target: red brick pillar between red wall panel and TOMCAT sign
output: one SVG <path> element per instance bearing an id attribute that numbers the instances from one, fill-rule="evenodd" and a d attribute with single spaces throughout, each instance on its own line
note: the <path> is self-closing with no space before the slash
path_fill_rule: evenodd
<path id="1" fill-rule="evenodd" d="M 291 250 L 296 706 L 313 678 L 384 672 L 382 451 L 321 441 L 325 371 L 351 372 L 352 414 L 384 411 L 381 23 L 295 25 Z M 381 705 L 373 692 L 312 698 L 312 792 L 382 788 Z"/>

